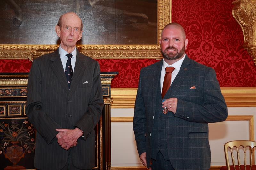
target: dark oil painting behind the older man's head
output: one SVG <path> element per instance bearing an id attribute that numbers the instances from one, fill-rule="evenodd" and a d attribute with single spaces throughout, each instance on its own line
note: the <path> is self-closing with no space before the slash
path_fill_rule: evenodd
<path id="1" fill-rule="evenodd" d="M 1 0 L 0 44 L 59 44 L 60 15 L 76 12 L 83 45 L 157 44 L 157 0 Z"/>

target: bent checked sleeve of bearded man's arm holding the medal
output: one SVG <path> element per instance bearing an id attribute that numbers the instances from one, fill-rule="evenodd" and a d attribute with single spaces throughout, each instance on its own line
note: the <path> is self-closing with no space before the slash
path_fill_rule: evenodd
<path id="1" fill-rule="evenodd" d="M 209 69 L 205 75 L 202 93 L 204 98 L 202 104 L 178 99 L 174 116 L 197 123 L 224 121 L 228 116 L 227 105 L 213 69 Z"/>

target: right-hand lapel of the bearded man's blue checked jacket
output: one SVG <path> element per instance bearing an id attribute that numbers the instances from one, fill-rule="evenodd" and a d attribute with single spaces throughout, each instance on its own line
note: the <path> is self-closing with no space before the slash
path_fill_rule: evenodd
<path id="1" fill-rule="evenodd" d="M 186 76 L 186 74 L 189 71 L 189 65 L 190 65 L 190 59 L 188 58 L 188 56 L 185 56 L 185 59 L 180 67 L 180 71 L 177 74 L 177 76 L 175 77 L 174 81 L 172 82 L 171 88 L 169 90 L 171 90 L 171 97 L 173 97 L 177 91 L 177 89 L 180 88 L 181 83 L 184 80 L 184 77 Z"/>

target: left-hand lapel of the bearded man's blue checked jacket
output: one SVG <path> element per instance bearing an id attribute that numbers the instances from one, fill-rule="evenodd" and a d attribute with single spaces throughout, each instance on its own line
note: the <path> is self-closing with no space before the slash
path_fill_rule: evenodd
<path id="1" fill-rule="evenodd" d="M 153 76 L 153 97 L 152 97 L 152 100 L 153 100 L 153 107 L 154 107 L 154 111 L 156 110 L 156 98 L 158 96 L 158 93 L 160 93 L 161 95 L 161 92 L 158 91 L 158 86 L 160 86 L 160 76 L 161 76 L 161 69 L 162 69 L 162 66 L 163 66 L 163 60 L 161 60 L 160 62 L 158 62 L 158 64 L 156 65 L 156 69 L 154 70 L 154 76 Z M 154 112 L 154 115 L 155 115 L 155 112 Z"/>

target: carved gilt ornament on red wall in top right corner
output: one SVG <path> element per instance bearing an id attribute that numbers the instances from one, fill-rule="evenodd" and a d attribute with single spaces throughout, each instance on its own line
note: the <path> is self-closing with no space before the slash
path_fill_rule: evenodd
<path id="1" fill-rule="evenodd" d="M 233 1 L 233 17 L 236 19 L 244 34 L 243 47 L 251 55 L 256 66 L 256 1 Z"/>

